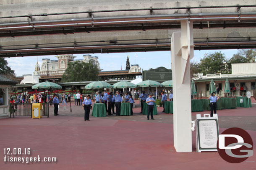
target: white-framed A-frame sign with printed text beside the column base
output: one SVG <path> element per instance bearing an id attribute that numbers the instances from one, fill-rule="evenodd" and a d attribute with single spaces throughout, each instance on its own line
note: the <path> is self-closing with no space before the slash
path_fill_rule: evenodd
<path id="1" fill-rule="evenodd" d="M 218 115 L 196 114 L 196 151 L 217 151 L 219 137 Z"/>

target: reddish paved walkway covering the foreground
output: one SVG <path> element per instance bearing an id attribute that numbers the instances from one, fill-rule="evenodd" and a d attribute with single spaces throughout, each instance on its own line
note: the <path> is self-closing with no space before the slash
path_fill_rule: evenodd
<path id="1" fill-rule="evenodd" d="M 157 109 L 155 120 L 146 120 L 145 115 L 138 114 L 140 108 L 136 107 L 134 116 L 90 117 L 91 121 L 84 122 L 81 106 L 72 106 L 72 113 L 70 107 L 60 110 L 60 116 L 53 116 L 53 107 L 50 107 L 50 117 L 43 119 L 0 119 L 0 169 L 255 170 L 255 149 L 253 157 L 230 164 L 217 152 L 196 152 L 195 132 L 193 152 L 175 152 L 172 114 L 162 113 L 162 107 Z M 193 112 L 192 119 L 199 113 L 209 112 Z M 256 143 L 256 104 L 252 108 L 224 109 L 217 113 L 220 133 L 229 127 L 240 127 L 246 129 Z M 29 147 L 31 155 L 22 157 L 57 157 L 57 162 L 4 162 L 3 150 L 7 147 Z"/>

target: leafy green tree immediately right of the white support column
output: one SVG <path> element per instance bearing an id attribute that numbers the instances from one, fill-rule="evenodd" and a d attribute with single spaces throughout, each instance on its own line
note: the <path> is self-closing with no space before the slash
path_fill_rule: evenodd
<path id="1" fill-rule="evenodd" d="M 220 51 L 215 53 L 206 53 L 199 63 L 198 70 L 199 73 L 203 73 L 204 75 L 215 73 L 227 74 L 229 71 L 227 70 L 226 64 L 227 60 L 224 53 L 221 53 Z"/>

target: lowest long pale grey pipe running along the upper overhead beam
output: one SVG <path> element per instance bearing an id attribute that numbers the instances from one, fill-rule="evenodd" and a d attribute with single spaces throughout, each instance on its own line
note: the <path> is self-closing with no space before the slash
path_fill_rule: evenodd
<path id="1" fill-rule="evenodd" d="M 242 19 L 256 19 L 256 17 L 211 17 L 211 18 L 173 18 L 173 19 L 154 19 L 154 20 L 124 20 L 124 21 L 107 21 L 107 22 L 94 22 L 93 25 L 100 24 L 121 24 L 121 23 L 141 23 L 141 22 L 166 22 L 166 21 L 180 21 L 180 20 L 242 20 Z M 0 30 L 19 30 L 29 28 L 51 28 L 51 27 L 68 27 L 68 26 L 85 26 L 92 23 L 72 23 L 72 24 L 53 24 L 53 25 L 31 25 L 31 26 L 18 26 L 18 27 L 4 27 Z"/>

